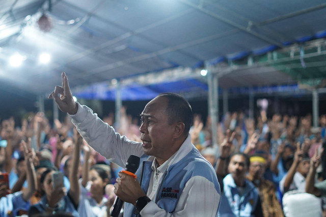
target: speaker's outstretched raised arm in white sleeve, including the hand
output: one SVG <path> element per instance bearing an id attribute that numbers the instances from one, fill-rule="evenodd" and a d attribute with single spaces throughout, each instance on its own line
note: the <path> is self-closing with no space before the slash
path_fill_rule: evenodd
<path id="1" fill-rule="evenodd" d="M 60 95 L 60 97 L 58 96 Z M 56 86 L 49 98 L 55 99 L 59 109 L 71 115 L 80 135 L 106 159 L 124 167 L 130 154 L 142 156 L 142 143 L 129 141 L 104 123 L 87 106 L 75 103 L 69 88 L 68 78 L 62 73 L 62 87 Z M 114 150 L 114 151 L 113 151 Z"/>

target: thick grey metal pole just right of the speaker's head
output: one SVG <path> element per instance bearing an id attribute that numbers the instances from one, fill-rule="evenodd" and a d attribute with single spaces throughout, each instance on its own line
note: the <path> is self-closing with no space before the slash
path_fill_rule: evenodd
<path id="1" fill-rule="evenodd" d="M 208 114 L 211 118 L 211 130 L 212 130 L 212 145 L 213 147 L 218 146 L 216 132 L 217 132 L 217 123 L 218 118 L 218 76 L 212 72 L 211 68 L 206 65 L 207 70 L 207 82 L 208 82 Z M 219 148 L 216 148 L 217 151 Z M 219 154 L 219 153 L 218 153 Z"/>

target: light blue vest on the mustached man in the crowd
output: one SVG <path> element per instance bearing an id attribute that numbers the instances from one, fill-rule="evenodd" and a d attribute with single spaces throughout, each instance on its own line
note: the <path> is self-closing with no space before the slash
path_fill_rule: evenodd
<path id="1" fill-rule="evenodd" d="M 220 217 L 250 217 L 258 202 L 258 190 L 255 185 L 246 179 L 242 196 L 234 183 L 231 174 L 223 179 L 223 193 L 221 198 Z"/>

